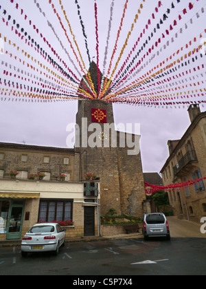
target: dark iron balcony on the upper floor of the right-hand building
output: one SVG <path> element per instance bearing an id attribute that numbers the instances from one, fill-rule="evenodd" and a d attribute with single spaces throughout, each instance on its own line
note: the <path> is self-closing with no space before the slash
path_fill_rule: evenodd
<path id="1" fill-rule="evenodd" d="M 193 162 L 197 162 L 196 152 L 195 151 L 187 151 L 185 156 L 177 162 L 177 164 L 173 167 L 174 175 L 179 176 L 183 173 L 183 170 L 190 169 L 191 164 Z"/>

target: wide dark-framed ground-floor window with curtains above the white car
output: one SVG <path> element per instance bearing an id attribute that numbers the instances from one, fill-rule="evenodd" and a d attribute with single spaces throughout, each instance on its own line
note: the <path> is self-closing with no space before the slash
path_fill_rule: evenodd
<path id="1" fill-rule="evenodd" d="M 38 221 L 52 222 L 72 220 L 72 201 L 68 200 L 41 200 L 39 205 Z"/>

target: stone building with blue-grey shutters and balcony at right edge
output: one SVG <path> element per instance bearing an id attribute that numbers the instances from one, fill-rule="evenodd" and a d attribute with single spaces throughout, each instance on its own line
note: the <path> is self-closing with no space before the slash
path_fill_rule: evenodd
<path id="1" fill-rule="evenodd" d="M 206 176 L 206 112 L 190 105 L 191 125 L 180 140 L 168 140 L 170 156 L 161 169 L 164 185 Z M 182 190 L 169 191 L 174 215 L 200 222 L 206 216 L 205 180 Z"/>

